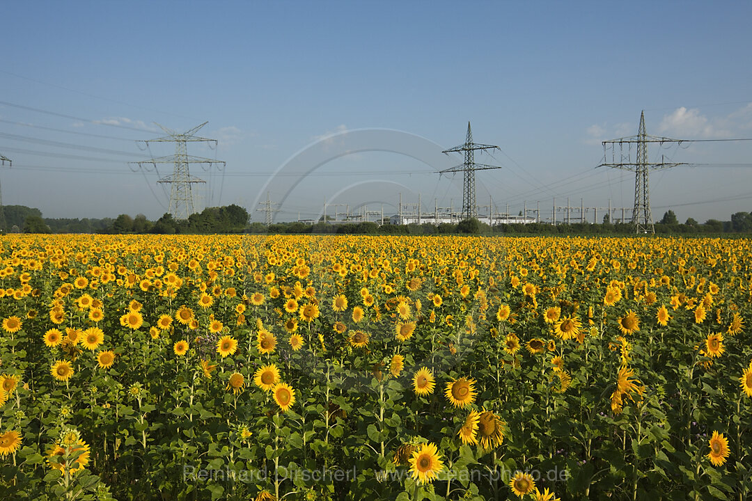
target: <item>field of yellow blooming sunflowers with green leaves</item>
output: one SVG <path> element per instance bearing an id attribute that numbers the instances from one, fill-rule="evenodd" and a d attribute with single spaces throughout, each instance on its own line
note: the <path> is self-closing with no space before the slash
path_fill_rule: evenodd
<path id="1" fill-rule="evenodd" d="M 0 499 L 749 499 L 752 242 L 0 240 Z"/>

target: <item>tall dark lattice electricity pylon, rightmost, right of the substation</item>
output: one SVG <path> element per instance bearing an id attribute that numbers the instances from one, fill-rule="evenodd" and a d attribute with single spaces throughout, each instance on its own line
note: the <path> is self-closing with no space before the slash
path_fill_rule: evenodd
<path id="1" fill-rule="evenodd" d="M 661 155 L 660 163 L 650 163 L 647 161 L 647 143 L 684 143 L 681 139 L 670 139 L 669 137 L 649 136 L 645 131 L 645 112 L 640 113 L 640 127 L 636 136 L 620 137 L 603 141 L 603 163 L 598 167 L 611 167 L 623 169 L 625 171 L 635 172 L 635 207 L 632 209 L 632 225 L 635 225 L 635 233 L 652 233 L 656 229 L 653 226 L 653 216 L 650 213 L 650 188 L 647 184 L 648 173 L 650 169 L 660 171 L 677 165 L 686 165 L 684 162 L 666 163 L 665 157 Z M 616 145 L 619 145 L 619 158 L 616 155 Z M 637 146 L 635 161 L 632 161 L 632 145 Z M 607 163 L 608 145 L 611 147 L 611 163 Z M 626 151 L 625 151 L 626 149 Z"/>

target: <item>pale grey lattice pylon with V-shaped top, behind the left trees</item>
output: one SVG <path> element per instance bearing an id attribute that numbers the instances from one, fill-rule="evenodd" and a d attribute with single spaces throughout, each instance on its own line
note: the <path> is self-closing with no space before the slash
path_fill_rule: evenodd
<path id="1" fill-rule="evenodd" d="M 156 122 L 155 122 L 156 123 Z M 132 161 L 131 164 L 138 164 L 138 167 L 142 167 L 144 164 L 152 164 L 156 168 L 156 164 L 174 164 L 172 174 L 167 177 L 162 177 L 157 183 L 168 183 L 170 188 L 170 208 L 169 213 L 173 219 L 177 221 L 184 221 L 194 213 L 193 210 L 193 191 L 191 185 L 195 183 L 206 183 L 199 177 L 191 176 L 188 171 L 189 164 L 209 164 L 211 167 L 213 164 L 227 163 L 221 160 L 212 160 L 211 158 L 202 158 L 198 156 L 189 156 L 187 153 L 186 143 L 189 142 L 208 142 L 217 145 L 216 139 L 207 139 L 206 137 L 198 137 L 193 134 L 199 131 L 208 122 L 204 122 L 201 125 L 190 129 L 190 131 L 178 134 L 162 125 L 163 131 L 167 132 L 167 136 L 158 137 L 156 139 L 140 140 L 138 143 L 145 143 L 149 146 L 149 143 L 175 143 L 175 154 L 173 156 L 163 156 L 159 158 L 152 158 L 151 160 L 144 161 Z"/>

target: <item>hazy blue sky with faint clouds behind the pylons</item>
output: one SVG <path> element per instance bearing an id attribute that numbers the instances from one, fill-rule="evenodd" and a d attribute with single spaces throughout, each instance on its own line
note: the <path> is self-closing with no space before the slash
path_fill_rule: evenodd
<path id="1" fill-rule="evenodd" d="M 12 2 L 3 19 L 0 154 L 14 164 L 2 201 L 47 217 L 165 213 L 156 181 L 171 167 L 127 164 L 174 152 L 135 143 L 162 135 L 153 122 L 208 121 L 199 134 L 217 149 L 188 152 L 227 165 L 192 166 L 208 181 L 196 207 L 241 204 L 259 221 L 272 173 L 357 129 L 449 148 L 469 120 L 502 149 L 476 158 L 502 165 L 478 173 L 478 204 L 540 204 L 544 218 L 553 198 L 632 207 L 633 174 L 596 165 L 600 141 L 636 134 L 641 110 L 648 134 L 752 137 L 750 2 Z M 654 219 L 752 210 L 752 141 L 651 146 L 650 161 L 661 155 L 695 165 L 651 174 Z M 357 152 L 269 196 L 284 198 L 280 220 L 315 217 L 325 198 L 393 213 L 399 192 L 426 211 L 459 207 L 462 176 L 434 171 Z"/>

